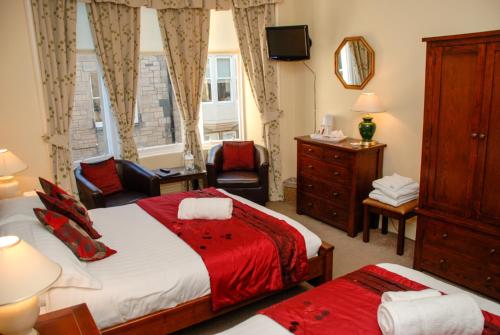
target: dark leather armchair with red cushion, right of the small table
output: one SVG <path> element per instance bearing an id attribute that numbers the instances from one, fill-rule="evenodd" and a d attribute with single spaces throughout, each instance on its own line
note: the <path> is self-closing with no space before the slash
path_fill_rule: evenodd
<path id="1" fill-rule="evenodd" d="M 269 200 L 267 149 L 251 141 L 228 141 L 212 147 L 207 159 L 208 185 L 261 205 Z"/>

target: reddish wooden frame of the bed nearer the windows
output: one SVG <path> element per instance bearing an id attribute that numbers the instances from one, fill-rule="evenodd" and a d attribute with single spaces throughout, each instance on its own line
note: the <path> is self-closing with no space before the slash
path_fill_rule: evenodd
<path id="1" fill-rule="evenodd" d="M 332 279 L 333 249 L 332 245 L 323 242 L 319 248 L 318 256 L 308 260 L 309 273 L 306 278 L 307 282 L 312 285 L 319 285 Z M 212 311 L 210 295 L 206 295 L 172 308 L 163 309 L 116 326 L 102 329 L 101 332 L 103 335 L 170 334 L 248 305 L 271 294 L 265 294 L 217 312 Z"/>

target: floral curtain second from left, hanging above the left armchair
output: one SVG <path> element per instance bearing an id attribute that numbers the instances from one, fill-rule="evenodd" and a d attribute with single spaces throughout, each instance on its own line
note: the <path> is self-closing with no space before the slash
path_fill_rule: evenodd
<path id="1" fill-rule="evenodd" d="M 121 158 L 137 162 L 134 113 L 139 74 L 139 7 L 109 2 L 87 5 L 96 53 L 118 125 Z"/>

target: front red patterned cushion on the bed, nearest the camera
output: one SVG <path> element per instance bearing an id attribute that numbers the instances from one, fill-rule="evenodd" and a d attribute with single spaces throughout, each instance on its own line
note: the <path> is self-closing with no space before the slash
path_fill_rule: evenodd
<path id="1" fill-rule="evenodd" d="M 67 217 L 46 209 L 35 208 L 33 211 L 38 220 L 64 242 L 80 260 L 93 262 L 116 253 L 116 250 L 108 248 L 104 243 L 91 239 L 82 228 Z"/>

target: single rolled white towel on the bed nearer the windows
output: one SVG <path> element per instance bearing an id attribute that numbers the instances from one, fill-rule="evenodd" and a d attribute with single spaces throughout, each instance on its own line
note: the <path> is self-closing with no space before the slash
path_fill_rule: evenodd
<path id="1" fill-rule="evenodd" d="M 232 215 L 233 200 L 230 198 L 186 198 L 177 212 L 180 220 L 228 220 Z"/>

